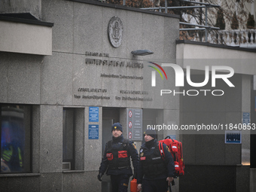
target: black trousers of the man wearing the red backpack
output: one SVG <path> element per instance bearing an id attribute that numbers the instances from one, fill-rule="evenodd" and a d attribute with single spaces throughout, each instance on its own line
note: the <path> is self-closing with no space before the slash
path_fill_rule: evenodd
<path id="1" fill-rule="evenodd" d="M 166 178 L 142 181 L 142 192 L 166 192 L 168 187 Z"/>

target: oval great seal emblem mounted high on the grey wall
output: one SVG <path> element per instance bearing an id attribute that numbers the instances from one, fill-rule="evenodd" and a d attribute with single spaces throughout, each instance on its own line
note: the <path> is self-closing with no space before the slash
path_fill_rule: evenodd
<path id="1" fill-rule="evenodd" d="M 108 39 L 113 47 L 119 47 L 122 43 L 123 23 L 120 18 L 114 16 L 108 23 Z"/>

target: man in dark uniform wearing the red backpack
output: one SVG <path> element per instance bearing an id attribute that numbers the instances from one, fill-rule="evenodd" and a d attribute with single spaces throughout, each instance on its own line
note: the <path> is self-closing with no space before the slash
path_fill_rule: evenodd
<path id="1" fill-rule="evenodd" d="M 155 130 L 146 130 L 144 134 L 145 143 L 139 151 L 138 190 L 166 192 L 175 173 L 172 154 L 163 144 L 165 156 L 162 157 Z"/>

